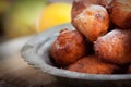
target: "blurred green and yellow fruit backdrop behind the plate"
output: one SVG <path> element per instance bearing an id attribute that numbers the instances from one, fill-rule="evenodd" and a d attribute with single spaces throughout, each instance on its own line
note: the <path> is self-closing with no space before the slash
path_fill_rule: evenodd
<path id="1" fill-rule="evenodd" d="M 72 0 L 0 0 L 0 42 L 69 23 L 71 2 Z"/>

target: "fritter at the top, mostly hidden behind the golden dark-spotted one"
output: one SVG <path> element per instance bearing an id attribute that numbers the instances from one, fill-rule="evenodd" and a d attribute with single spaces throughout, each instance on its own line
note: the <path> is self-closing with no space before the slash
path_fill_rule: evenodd
<path id="1" fill-rule="evenodd" d="M 112 7 L 114 0 L 73 0 L 71 16 L 73 18 L 91 4 L 103 5 L 107 10 Z"/>

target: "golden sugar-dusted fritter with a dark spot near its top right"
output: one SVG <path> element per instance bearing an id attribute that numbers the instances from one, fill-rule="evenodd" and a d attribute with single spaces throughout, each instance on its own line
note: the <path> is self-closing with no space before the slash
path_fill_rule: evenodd
<path id="1" fill-rule="evenodd" d="M 72 24 L 90 41 L 95 41 L 107 33 L 109 15 L 102 5 L 91 4 L 73 18 Z"/>

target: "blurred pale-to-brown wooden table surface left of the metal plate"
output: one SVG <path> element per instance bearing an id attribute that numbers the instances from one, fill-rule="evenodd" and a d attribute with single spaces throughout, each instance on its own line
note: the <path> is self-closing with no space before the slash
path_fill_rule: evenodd
<path id="1" fill-rule="evenodd" d="M 0 87 L 5 84 L 8 84 L 7 87 L 9 85 L 14 87 L 48 87 L 49 85 L 51 87 L 51 83 L 57 84 L 53 77 L 34 69 L 21 58 L 20 50 L 31 38 L 24 37 L 0 44 Z"/>

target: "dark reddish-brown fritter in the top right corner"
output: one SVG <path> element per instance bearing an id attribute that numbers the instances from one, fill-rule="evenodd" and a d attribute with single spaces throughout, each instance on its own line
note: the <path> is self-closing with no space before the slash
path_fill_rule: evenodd
<path id="1" fill-rule="evenodd" d="M 115 0 L 110 17 L 122 29 L 131 28 L 131 0 Z"/>

